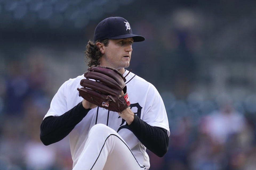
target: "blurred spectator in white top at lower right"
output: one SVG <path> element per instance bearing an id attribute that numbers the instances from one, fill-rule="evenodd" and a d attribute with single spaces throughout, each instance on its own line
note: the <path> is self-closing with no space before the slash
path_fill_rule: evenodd
<path id="1" fill-rule="evenodd" d="M 197 144 L 191 148 L 194 170 L 237 169 L 245 162 L 245 150 L 237 143 L 237 135 L 246 128 L 245 117 L 234 110 L 230 98 L 217 102 L 219 110 L 202 117 Z"/>

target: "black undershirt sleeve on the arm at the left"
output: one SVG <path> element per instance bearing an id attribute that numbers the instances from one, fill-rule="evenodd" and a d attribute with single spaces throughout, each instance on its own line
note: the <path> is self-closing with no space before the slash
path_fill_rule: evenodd
<path id="1" fill-rule="evenodd" d="M 61 116 L 46 117 L 40 128 L 40 139 L 44 145 L 50 145 L 65 138 L 90 111 L 85 109 L 82 102 Z"/>

